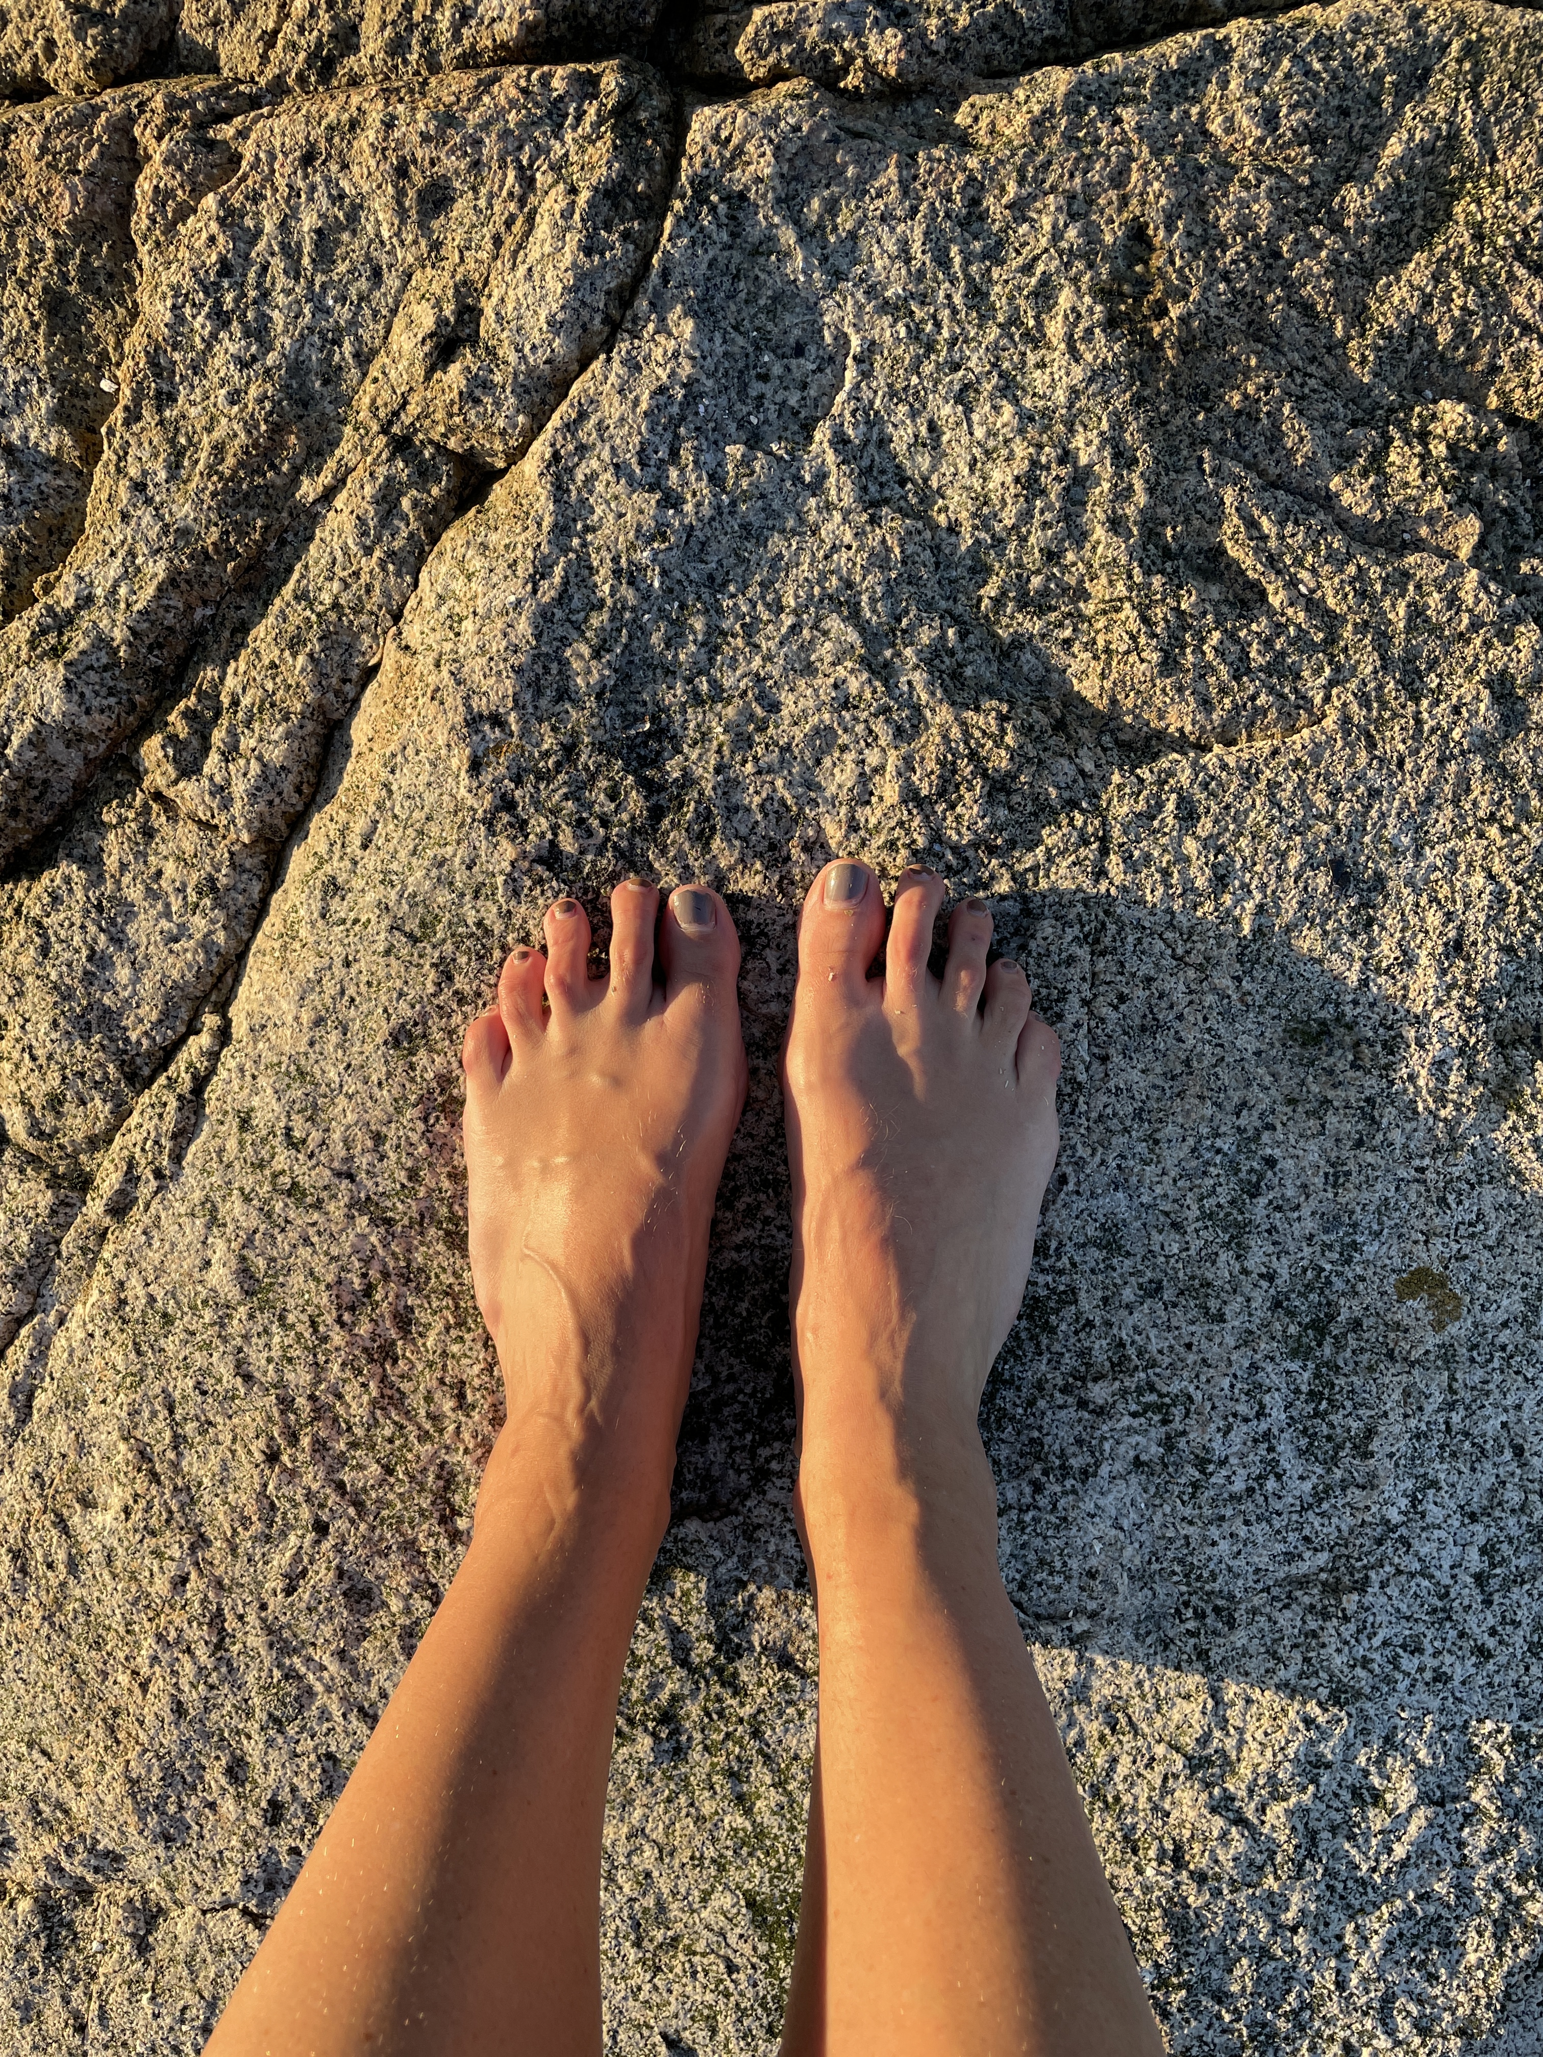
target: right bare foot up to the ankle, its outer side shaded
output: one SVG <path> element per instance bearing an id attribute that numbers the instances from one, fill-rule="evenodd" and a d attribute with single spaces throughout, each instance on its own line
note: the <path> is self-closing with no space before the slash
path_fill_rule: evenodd
<path id="1" fill-rule="evenodd" d="M 1022 969 L 988 969 L 981 901 L 955 907 L 942 979 L 928 971 L 940 905 L 936 874 L 901 874 L 874 979 L 885 903 L 866 864 L 827 864 L 800 917 L 784 1057 L 800 1495 L 874 1401 L 928 1444 L 979 1452 L 1029 1277 L 1060 1045 Z"/>

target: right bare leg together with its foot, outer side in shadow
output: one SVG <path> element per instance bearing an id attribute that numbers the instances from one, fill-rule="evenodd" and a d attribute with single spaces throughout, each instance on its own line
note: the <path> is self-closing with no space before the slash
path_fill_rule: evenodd
<path id="1" fill-rule="evenodd" d="M 819 1753 L 784 2030 L 813 2053 L 1160 2051 L 996 1563 L 975 1415 L 1055 1162 L 1060 1049 L 990 913 L 833 864 L 786 1051 L 796 1512 Z M 983 1008 L 981 1008 L 983 998 Z"/>

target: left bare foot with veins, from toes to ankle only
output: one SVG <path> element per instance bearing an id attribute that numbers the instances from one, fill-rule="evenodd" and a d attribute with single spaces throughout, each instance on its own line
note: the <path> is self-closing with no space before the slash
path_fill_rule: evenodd
<path id="1" fill-rule="evenodd" d="M 745 1100 L 739 938 L 716 893 L 679 887 L 660 917 L 646 878 L 615 889 L 611 922 L 611 975 L 590 979 L 584 909 L 555 901 L 545 954 L 514 950 L 467 1028 L 471 1279 L 504 1370 L 500 1450 L 558 1452 L 580 1483 L 617 1454 L 667 1518 Z"/>

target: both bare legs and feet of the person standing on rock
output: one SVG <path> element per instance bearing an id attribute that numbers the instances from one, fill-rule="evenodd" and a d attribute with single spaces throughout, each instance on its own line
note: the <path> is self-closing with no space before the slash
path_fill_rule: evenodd
<path id="1" fill-rule="evenodd" d="M 831 891 L 827 893 L 827 885 Z M 821 1732 L 784 2051 L 1138 2053 L 1156 2026 L 996 1569 L 975 1409 L 1055 1158 L 1055 1039 L 990 917 L 831 866 L 786 1045 L 796 1516 Z M 467 1028 L 477 1304 L 508 1419 L 473 1543 L 214 2057 L 593 2053 L 601 1818 L 745 1098 L 728 909 L 574 901 Z M 981 1004 L 983 1002 L 983 1004 Z"/>

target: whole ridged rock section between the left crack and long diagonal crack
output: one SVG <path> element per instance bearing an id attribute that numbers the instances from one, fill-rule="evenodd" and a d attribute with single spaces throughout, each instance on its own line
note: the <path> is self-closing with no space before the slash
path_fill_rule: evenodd
<path id="1" fill-rule="evenodd" d="M 0 887 L 0 1113 L 56 1162 L 249 940 L 426 551 L 607 339 L 669 171 L 625 66 L 167 113 L 84 535 L 0 631 L 6 850 L 181 689 Z"/>

